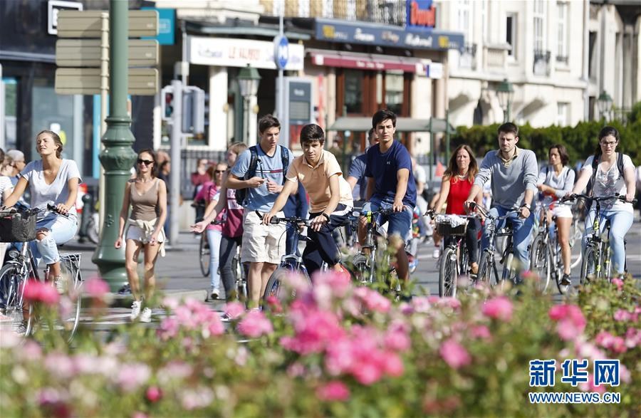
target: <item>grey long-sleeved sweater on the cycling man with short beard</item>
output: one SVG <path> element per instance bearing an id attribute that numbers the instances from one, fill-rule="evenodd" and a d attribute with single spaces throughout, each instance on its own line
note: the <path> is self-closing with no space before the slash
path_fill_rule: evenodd
<path id="1" fill-rule="evenodd" d="M 530 150 L 518 148 L 516 157 L 505 164 L 499 151 L 488 152 L 479 174 L 474 177 L 474 184 L 483 187 L 491 179 L 493 204 L 506 209 L 518 209 L 523 204 L 527 189 L 536 192 L 538 166 L 536 155 Z"/>

